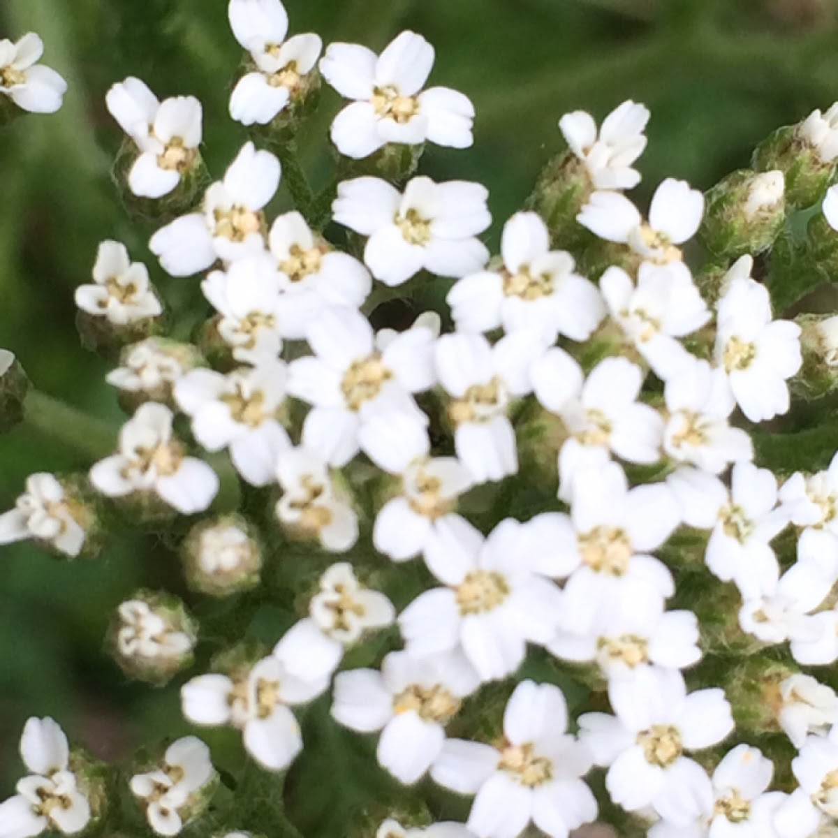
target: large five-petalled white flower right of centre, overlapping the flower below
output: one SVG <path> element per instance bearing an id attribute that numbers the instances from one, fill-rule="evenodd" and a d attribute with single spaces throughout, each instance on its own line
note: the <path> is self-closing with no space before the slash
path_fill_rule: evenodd
<path id="1" fill-rule="evenodd" d="M 587 468 L 573 483 L 571 514 L 537 515 L 538 532 L 550 556 L 542 572 L 570 577 L 564 587 L 561 629 L 591 634 L 603 614 L 618 612 L 651 587 L 663 600 L 675 586 L 666 566 L 647 555 L 680 524 L 675 499 L 665 484 L 629 489 L 617 463 Z"/>

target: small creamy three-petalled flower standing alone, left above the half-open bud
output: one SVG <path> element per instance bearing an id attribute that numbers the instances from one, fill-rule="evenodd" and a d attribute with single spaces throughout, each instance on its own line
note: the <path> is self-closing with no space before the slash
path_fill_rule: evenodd
<path id="1" fill-rule="evenodd" d="M 94 285 L 75 289 L 75 304 L 94 317 L 104 317 L 115 326 L 158 317 L 163 313 L 157 294 L 142 262 L 132 262 L 118 241 L 103 241 L 93 266 Z"/>

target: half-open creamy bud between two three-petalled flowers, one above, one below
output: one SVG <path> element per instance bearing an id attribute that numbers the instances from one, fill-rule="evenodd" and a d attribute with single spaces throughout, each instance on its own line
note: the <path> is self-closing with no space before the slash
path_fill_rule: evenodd
<path id="1" fill-rule="evenodd" d="M 172 406 L 175 382 L 202 365 L 204 359 L 192 344 L 148 338 L 122 349 L 120 365 L 108 373 L 106 381 L 119 388 L 120 406 L 130 414 L 144 401 Z"/>

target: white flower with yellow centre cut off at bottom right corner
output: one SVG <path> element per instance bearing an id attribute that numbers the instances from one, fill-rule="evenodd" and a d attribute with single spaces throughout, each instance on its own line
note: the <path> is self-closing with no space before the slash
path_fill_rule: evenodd
<path id="1" fill-rule="evenodd" d="M 774 818 L 780 838 L 808 838 L 820 825 L 838 820 L 838 729 L 828 737 L 810 736 L 791 761 L 800 784 Z M 828 833 L 827 833 L 828 834 Z"/>

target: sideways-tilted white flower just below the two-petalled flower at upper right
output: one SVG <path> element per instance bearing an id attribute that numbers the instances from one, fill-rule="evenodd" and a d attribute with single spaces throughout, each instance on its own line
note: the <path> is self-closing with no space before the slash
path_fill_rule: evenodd
<path id="1" fill-rule="evenodd" d="M 599 281 L 614 323 L 624 339 L 668 380 L 691 355 L 678 341 L 701 328 L 710 312 L 688 272 L 644 262 L 637 285 L 620 267 L 609 267 Z"/>

